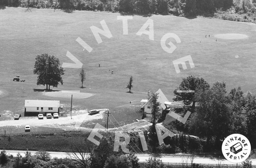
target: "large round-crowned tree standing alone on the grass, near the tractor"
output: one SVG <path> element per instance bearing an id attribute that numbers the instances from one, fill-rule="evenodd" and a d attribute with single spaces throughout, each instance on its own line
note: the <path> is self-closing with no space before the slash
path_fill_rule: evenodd
<path id="1" fill-rule="evenodd" d="M 64 75 L 64 69 L 60 66 L 60 60 L 53 55 L 47 53 L 37 55 L 34 66 L 34 74 L 37 76 L 37 85 L 46 85 L 46 89 L 58 87 L 58 84 L 63 84 L 61 75 Z"/>

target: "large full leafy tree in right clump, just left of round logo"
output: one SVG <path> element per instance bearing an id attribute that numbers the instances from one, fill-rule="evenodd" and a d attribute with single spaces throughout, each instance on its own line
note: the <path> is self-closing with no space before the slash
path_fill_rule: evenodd
<path id="1" fill-rule="evenodd" d="M 198 106 L 189 121 L 190 131 L 207 137 L 215 138 L 216 145 L 230 131 L 231 109 L 226 99 L 226 84 L 216 82 L 211 89 L 196 93 Z"/>

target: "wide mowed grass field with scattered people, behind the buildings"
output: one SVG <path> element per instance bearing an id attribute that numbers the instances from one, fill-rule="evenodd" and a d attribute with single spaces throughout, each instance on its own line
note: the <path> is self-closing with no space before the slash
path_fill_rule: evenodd
<path id="1" fill-rule="evenodd" d="M 0 120 L 6 119 L 5 110 L 22 113 L 26 99 L 60 100 L 67 111 L 70 108 L 71 98 L 47 97 L 38 91 L 45 87 L 36 85 L 37 76 L 33 69 L 36 55 L 42 53 L 54 55 L 61 64 L 73 63 L 66 56 L 69 51 L 83 63 L 87 76 L 85 88 L 80 88 L 79 68 L 65 68 L 64 84 L 51 87 L 53 90 L 80 90 L 93 94 L 86 99 L 73 99 L 74 110 L 116 109 L 130 101 L 140 105 L 140 100 L 147 98 L 148 90 L 156 92 L 159 88 L 172 101 L 173 90 L 189 75 L 203 77 L 210 85 L 225 81 L 228 91 L 242 86 L 244 92 L 256 93 L 256 26 L 252 23 L 134 15 L 128 20 L 128 35 L 123 35 L 122 20 L 117 20 L 119 13 L 25 10 L 8 7 L 0 10 L 0 90 L 3 92 L 0 95 Z M 136 35 L 148 19 L 154 21 L 154 41 L 149 40 L 148 35 Z M 90 26 L 102 29 L 101 20 L 105 20 L 113 37 L 100 35 L 103 42 L 98 44 Z M 181 40 L 180 44 L 174 39 L 166 41 L 166 44 L 172 41 L 177 47 L 171 54 L 160 44 L 166 33 L 175 33 Z M 245 34 L 248 38 L 215 41 L 214 35 L 225 33 Z M 76 42 L 77 37 L 89 44 L 92 52 L 83 50 Z M 177 74 L 172 61 L 187 55 L 191 55 L 195 68 L 190 68 L 187 63 L 188 69 L 181 69 Z M 99 63 L 103 67 L 99 67 Z M 26 81 L 13 82 L 16 75 Z M 134 79 L 132 94 L 125 88 L 130 76 Z M 123 111 L 124 115 L 126 111 Z M 127 115 L 124 117 L 130 118 L 131 122 L 140 119 L 137 115 Z"/>

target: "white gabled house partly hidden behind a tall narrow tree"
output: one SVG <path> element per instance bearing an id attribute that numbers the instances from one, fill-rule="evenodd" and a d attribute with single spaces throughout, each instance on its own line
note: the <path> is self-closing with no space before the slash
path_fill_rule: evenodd
<path id="1" fill-rule="evenodd" d="M 171 106 L 172 102 L 169 102 L 169 100 L 165 97 L 165 95 L 161 91 L 161 89 L 158 89 L 158 91 L 156 93 L 158 93 L 157 101 L 160 102 L 160 106 L 158 107 L 158 109 L 159 109 L 159 112 L 162 113 L 164 110 L 169 109 L 169 107 Z M 143 99 L 143 100 L 140 101 L 141 108 L 144 109 L 144 115 L 146 117 L 150 117 L 151 116 L 151 107 L 149 105 L 149 100 L 144 100 Z"/>

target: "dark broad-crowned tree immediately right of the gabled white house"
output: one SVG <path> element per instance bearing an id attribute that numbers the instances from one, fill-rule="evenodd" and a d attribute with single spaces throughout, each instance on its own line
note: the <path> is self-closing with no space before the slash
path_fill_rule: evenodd
<path id="1" fill-rule="evenodd" d="M 185 105 L 190 105 L 193 102 L 192 108 L 195 108 L 196 100 L 194 100 L 194 95 L 199 90 L 206 90 L 210 88 L 210 85 L 203 79 L 195 76 L 188 76 L 183 78 L 180 86 L 173 91 L 176 97 L 173 98 L 174 101 L 183 101 Z M 180 93 L 177 90 L 193 90 L 195 93 Z"/>

